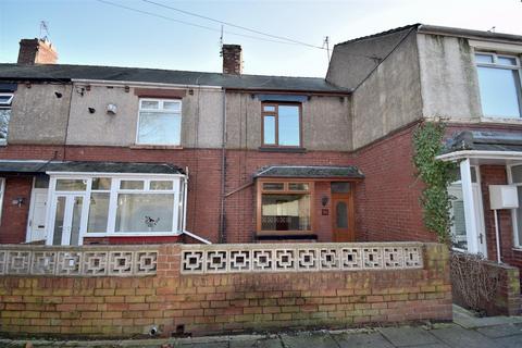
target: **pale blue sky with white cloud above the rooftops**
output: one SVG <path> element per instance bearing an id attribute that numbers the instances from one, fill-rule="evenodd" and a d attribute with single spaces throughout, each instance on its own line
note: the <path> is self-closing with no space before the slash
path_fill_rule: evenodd
<path id="1" fill-rule="evenodd" d="M 333 49 L 413 23 L 522 35 L 521 0 L 149 1 L 272 35 L 224 26 L 224 44 L 243 47 L 245 74 L 324 77 L 326 36 Z M 16 62 L 20 39 L 40 37 L 41 21 L 62 64 L 221 72 L 221 24 L 145 0 L 0 0 L 0 62 Z"/>

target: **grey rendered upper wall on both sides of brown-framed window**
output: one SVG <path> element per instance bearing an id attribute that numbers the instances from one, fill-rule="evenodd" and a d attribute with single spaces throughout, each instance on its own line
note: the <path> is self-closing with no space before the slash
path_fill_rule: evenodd
<path id="1" fill-rule="evenodd" d="M 226 92 L 228 149 L 261 146 L 261 101 L 251 94 Z M 312 96 L 302 103 L 302 145 L 307 150 L 351 150 L 348 98 Z"/>

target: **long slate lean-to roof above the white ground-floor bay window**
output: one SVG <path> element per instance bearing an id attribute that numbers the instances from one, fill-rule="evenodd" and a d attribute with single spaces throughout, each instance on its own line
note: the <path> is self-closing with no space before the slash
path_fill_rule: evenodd
<path id="1" fill-rule="evenodd" d="M 183 170 L 167 163 L 128 162 L 76 162 L 76 161 L 1 161 L 0 173 L 46 173 L 46 172 L 95 172 L 95 173 L 140 173 L 184 174 Z"/>

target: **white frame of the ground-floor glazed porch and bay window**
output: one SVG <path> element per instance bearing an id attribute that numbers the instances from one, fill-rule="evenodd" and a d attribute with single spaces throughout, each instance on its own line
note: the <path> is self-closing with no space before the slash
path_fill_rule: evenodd
<path id="1" fill-rule="evenodd" d="M 177 236 L 185 231 L 186 220 L 186 196 L 187 196 L 187 176 L 184 174 L 133 174 L 133 173 L 61 173 L 48 172 L 49 181 L 49 196 L 48 210 L 46 213 L 46 221 L 48 227 L 47 244 L 52 244 L 52 236 L 54 233 L 54 214 L 55 214 L 55 197 L 60 195 L 76 195 L 84 198 L 84 206 L 82 207 L 82 220 L 79 229 L 79 245 L 83 244 L 85 237 L 150 237 L 150 236 Z M 92 190 L 92 178 L 107 177 L 111 178 L 110 190 Z M 86 189 L 82 191 L 61 191 L 57 190 L 58 179 L 85 179 Z M 121 181 L 142 181 L 144 189 L 120 189 Z M 173 183 L 172 190 L 151 190 L 149 185 L 151 181 L 171 181 Z M 183 183 L 183 184 L 181 184 Z M 183 189 L 183 192 L 181 191 Z M 87 233 L 87 223 L 89 217 L 91 192 L 110 192 L 108 224 L 104 233 Z M 117 211 L 119 194 L 172 194 L 174 195 L 173 203 L 173 222 L 171 232 L 115 232 L 115 221 Z M 182 207 L 179 207 L 182 204 Z M 179 217 L 179 214 L 183 216 Z M 181 223 L 179 223 L 181 222 Z"/>

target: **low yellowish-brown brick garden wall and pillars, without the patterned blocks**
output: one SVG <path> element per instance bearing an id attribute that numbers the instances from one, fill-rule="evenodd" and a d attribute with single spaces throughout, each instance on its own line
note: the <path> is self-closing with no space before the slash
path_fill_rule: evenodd
<path id="1" fill-rule="evenodd" d="M 149 277 L 0 278 L 4 335 L 127 336 L 157 325 L 202 335 L 451 320 L 448 251 L 424 269 L 185 275 L 181 247 L 159 246 Z"/>

